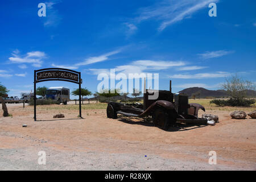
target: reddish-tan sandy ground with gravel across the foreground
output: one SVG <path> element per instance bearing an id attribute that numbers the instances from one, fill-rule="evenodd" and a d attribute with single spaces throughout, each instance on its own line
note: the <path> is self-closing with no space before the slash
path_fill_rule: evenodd
<path id="1" fill-rule="evenodd" d="M 1 170 L 255 170 L 256 119 L 217 114 L 215 126 L 179 124 L 163 131 L 138 119 L 109 119 L 105 109 L 78 110 L 11 104 L 13 117 L 0 111 Z M 53 119 L 63 113 L 65 118 Z M 203 111 L 200 113 L 203 114 Z M 23 124 L 28 125 L 22 127 Z M 38 152 L 46 152 L 46 165 Z M 209 151 L 217 164 L 210 165 Z"/>

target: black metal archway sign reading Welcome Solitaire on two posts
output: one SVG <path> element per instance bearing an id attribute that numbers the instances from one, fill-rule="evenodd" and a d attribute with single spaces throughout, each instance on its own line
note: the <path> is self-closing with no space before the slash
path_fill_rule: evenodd
<path id="1" fill-rule="evenodd" d="M 34 71 L 34 119 L 36 121 L 36 83 L 43 81 L 68 81 L 79 84 L 79 115 L 82 118 L 81 110 L 81 72 L 65 68 L 46 68 Z"/>

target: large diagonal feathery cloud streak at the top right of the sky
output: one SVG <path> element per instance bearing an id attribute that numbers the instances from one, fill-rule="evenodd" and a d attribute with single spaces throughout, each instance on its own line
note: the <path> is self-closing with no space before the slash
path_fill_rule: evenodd
<path id="1" fill-rule="evenodd" d="M 204 7 L 207 8 L 209 3 L 218 2 L 218 0 L 164 0 L 155 5 L 139 9 L 134 21 L 140 23 L 144 20 L 155 19 L 160 21 L 159 31 L 164 28 L 180 22 L 185 18 L 191 18 L 192 14 L 196 13 Z"/>

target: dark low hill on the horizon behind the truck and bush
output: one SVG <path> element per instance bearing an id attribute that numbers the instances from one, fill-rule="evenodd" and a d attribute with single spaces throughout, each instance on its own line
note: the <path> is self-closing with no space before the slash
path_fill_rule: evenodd
<path id="1" fill-rule="evenodd" d="M 225 90 L 208 90 L 205 88 L 201 87 L 192 87 L 192 88 L 187 88 L 184 90 L 181 90 L 179 93 L 186 94 L 187 96 L 191 97 L 193 93 L 199 93 L 200 92 L 200 97 L 226 97 L 228 94 L 226 93 Z M 255 90 L 247 90 L 248 96 L 253 96 L 256 97 L 256 91 Z"/>

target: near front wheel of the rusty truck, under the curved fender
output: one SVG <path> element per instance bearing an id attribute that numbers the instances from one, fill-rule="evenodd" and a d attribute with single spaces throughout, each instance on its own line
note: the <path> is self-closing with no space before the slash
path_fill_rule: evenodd
<path id="1" fill-rule="evenodd" d="M 169 128 L 169 116 L 164 109 L 156 109 L 154 113 L 154 125 L 162 130 Z"/>

